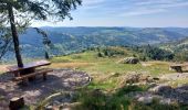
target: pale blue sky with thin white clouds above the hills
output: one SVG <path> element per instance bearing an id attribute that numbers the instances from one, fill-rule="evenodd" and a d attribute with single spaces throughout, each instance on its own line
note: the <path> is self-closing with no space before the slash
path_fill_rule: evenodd
<path id="1" fill-rule="evenodd" d="M 32 26 L 188 28 L 188 0 L 83 0 L 73 20 Z"/>

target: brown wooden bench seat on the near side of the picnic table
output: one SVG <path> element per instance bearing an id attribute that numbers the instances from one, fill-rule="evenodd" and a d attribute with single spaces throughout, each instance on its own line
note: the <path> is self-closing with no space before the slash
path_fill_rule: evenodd
<path id="1" fill-rule="evenodd" d="M 43 68 L 43 69 L 39 69 L 39 70 L 34 72 L 34 73 L 30 73 L 30 74 L 27 74 L 27 75 L 14 77 L 13 80 L 14 81 L 28 81 L 29 78 L 33 78 L 36 75 L 42 75 L 43 79 L 46 80 L 46 74 L 50 73 L 50 72 L 53 72 L 53 69 Z"/>

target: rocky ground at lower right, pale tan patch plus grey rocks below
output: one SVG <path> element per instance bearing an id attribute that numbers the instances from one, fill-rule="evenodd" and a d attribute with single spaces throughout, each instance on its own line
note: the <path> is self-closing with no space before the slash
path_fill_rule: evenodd
<path id="1" fill-rule="evenodd" d="M 188 73 L 184 74 L 168 74 L 163 75 L 159 78 L 153 78 L 152 76 L 145 76 L 142 74 L 133 74 L 127 77 L 132 85 L 150 85 L 148 91 L 130 92 L 128 96 L 134 97 L 137 101 L 144 103 L 152 103 L 154 99 L 157 99 L 163 105 L 184 103 L 188 105 L 188 85 L 180 85 L 178 87 L 169 86 L 169 81 L 176 81 L 178 79 L 188 79 Z M 155 80 L 157 79 L 157 80 Z M 165 81 L 164 81 L 165 80 Z M 128 81 L 128 82 L 129 82 Z"/>

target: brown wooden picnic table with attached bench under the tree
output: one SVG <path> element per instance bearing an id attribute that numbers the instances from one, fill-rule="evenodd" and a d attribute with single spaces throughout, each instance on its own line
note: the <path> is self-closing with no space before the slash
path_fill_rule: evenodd
<path id="1" fill-rule="evenodd" d="M 24 79 L 31 79 L 35 77 L 36 75 L 43 75 L 43 78 L 45 79 L 46 73 L 52 72 L 52 69 L 41 69 L 36 70 L 38 67 L 48 66 L 51 65 L 51 62 L 48 61 L 39 61 L 25 64 L 23 67 L 18 66 L 9 66 L 9 73 L 14 74 L 15 80 L 24 80 Z"/>

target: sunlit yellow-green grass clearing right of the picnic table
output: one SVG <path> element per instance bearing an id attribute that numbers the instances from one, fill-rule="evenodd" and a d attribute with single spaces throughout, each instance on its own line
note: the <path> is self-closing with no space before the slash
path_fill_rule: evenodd
<path id="1" fill-rule="evenodd" d="M 100 88 L 107 91 L 119 87 L 124 81 L 124 76 L 128 73 L 143 73 L 153 76 L 171 73 L 168 69 L 169 63 L 166 62 L 147 62 L 144 63 L 145 66 L 142 64 L 119 64 L 118 61 L 126 56 L 129 56 L 129 54 L 117 57 L 97 57 L 97 52 L 87 51 L 80 54 L 54 57 L 51 59 L 51 67 L 86 72 L 93 77 L 93 82 L 90 85 L 91 88 Z M 112 77 L 115 74 L 118 74 L 118 77 Z"/>

